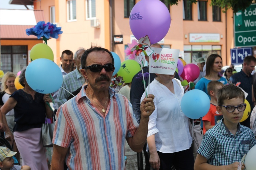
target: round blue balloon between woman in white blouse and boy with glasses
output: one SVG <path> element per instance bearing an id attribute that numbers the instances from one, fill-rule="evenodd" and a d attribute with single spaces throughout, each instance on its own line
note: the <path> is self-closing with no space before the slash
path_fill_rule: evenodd
<path id="1" fill-rule="evenodd" d="M 210 99 L 202 90 L 190 90 L 181 99 L 181 110 L 190 119 L 199 119 L 205 116 L 209 109 Z"/>

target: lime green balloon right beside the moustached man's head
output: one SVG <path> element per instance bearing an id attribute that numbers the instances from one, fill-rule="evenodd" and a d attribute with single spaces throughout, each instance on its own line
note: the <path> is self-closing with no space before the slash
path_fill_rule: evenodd
<path id="1" fill-rule="evenodd" d="M 134 60 L 126 60 L 121 63 L 121 67 L 117 72 L 117 75 L 123 77 L 125 83 L 130 83 L 134 75 L 136 75 L 140 70 L 139 63 Z"/>

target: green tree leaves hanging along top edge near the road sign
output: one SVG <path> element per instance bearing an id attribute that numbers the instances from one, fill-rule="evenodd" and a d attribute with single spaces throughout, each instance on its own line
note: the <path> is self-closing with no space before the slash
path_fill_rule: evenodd
<path id="1" fill-rule="evenodd" d="M 180 0 L 168 0 L 170 5 L 177 5 Z M 191 3 L 196 3 L 197 0 L 188 0 Z M 239 10 L 244 10 L 252 3 L 255 3 L 253 0 L 212 0 L 211 5 L 216 5 L 223 8 L 223 12 L 226 12 L 229 8 L 233 10 L 234 13 Z"/>

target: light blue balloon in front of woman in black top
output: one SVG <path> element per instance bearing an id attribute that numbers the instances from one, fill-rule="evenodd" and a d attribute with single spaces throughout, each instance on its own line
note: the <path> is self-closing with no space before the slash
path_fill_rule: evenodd
<path id="1" fill-rule="evenodd" d="M 32 61 L 26 69 L 25 77 L 28 85 L 42 94 L 57 91 L 63 81 L 59 66 L 46 58 Z"/>

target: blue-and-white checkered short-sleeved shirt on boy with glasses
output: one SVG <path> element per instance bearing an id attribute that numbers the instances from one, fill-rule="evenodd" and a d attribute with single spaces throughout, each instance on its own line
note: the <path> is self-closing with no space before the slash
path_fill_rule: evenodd
<path id="1" fill-rule="evenodd" d="M 203 136 L 197 153 L 215 166 L 240 162 L 254 145 L 256 140 L 251 129 L 238 123 L 237 133 L 233 135 L 223 123 L 223 119 Z"/>

